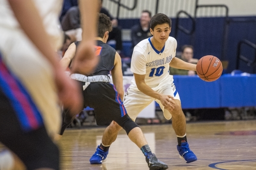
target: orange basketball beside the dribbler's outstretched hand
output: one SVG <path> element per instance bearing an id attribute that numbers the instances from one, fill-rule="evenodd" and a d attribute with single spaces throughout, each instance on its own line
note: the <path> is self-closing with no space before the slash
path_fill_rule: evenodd
<path id="1" fill-rule="evenodd" d="M 221 60 L 215 56 L 204 56 L 199 59 L 196 65 L 198 76 L 206 82 L 218 79 L 221 76 L 222 70 Z"/>

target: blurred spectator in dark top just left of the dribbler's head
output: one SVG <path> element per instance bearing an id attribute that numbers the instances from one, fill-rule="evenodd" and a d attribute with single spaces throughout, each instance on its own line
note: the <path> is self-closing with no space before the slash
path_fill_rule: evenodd
<path id="1" fill-rule="evenodd" d="M 151 19 L 151 12 L 148 10 L 144 10 L 140 16 L 140 24 L 135 25 L 131 28 L 131 50 L 135 45 L 137 45 L 140 41 L 151 37 L 150 29 L 149 29 L 149 21 Z"/>

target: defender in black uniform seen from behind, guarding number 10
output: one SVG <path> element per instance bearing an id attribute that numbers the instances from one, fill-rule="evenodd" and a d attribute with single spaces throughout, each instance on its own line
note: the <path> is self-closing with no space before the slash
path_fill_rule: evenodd
<path id="1" fill-rule="evenodd" d="M 71 74 L 81 85 L 84 96 L 84 107 L 94 108 L 97 125 L 109 125 L 112 121 L 121 126 L 132 142 L 137 144 L 146 157 L 150 170 L 166 170 L 168 166 L 159 161 L 148 146 L 148 143 L 140 127 L 131 120 L 126 113 L 122 103 L 124 96 L 122 85 L 122 63 L 119 54 L 110 45 L 107 45 L 108 32 L 111 31 L 111 21 L 105 14 L 99 14 L 98 37 L 96 37 L 96 54 L 100 56 L 99 64 L 90 75 Z M 72 71 L 72 61 L 76 53 L 79 42 L 74 42 L 66 51 L 61 65 L 64 68 L 70 67 Z M 112 74 L 113 84 L 110 83 L 108 74 Z M 81 108 L 82 110 L 83 108 Z M 63 123 L 60 135 L 63 135 L 65 128 L 70 125 L 75 117 L 70 117 L 68 111 L 64 111 Z M 108 126 L 105 131 L 111 131 Z M 114 130 L 113 130 L 114 131 Z M 107 139 L 108 140 L 108 139 Z M 102 164 L 106 161 L 109 146 L 102 143 L 90 159 L 91 164 Z"/>

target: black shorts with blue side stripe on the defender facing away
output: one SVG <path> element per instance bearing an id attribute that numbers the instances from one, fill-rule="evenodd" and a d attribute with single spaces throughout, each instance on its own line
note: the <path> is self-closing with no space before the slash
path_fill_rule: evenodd
<path id="1" fill-rule="evenodd" d="M 84 82 L 80 82 L 84 85 Z M 83 91 L 84 108 L 94 108 L 97 125 L 109 125 L 115 121 L 119 125 L 129 119 L 122 100 L 113 84 L 91 82 Z"/>

